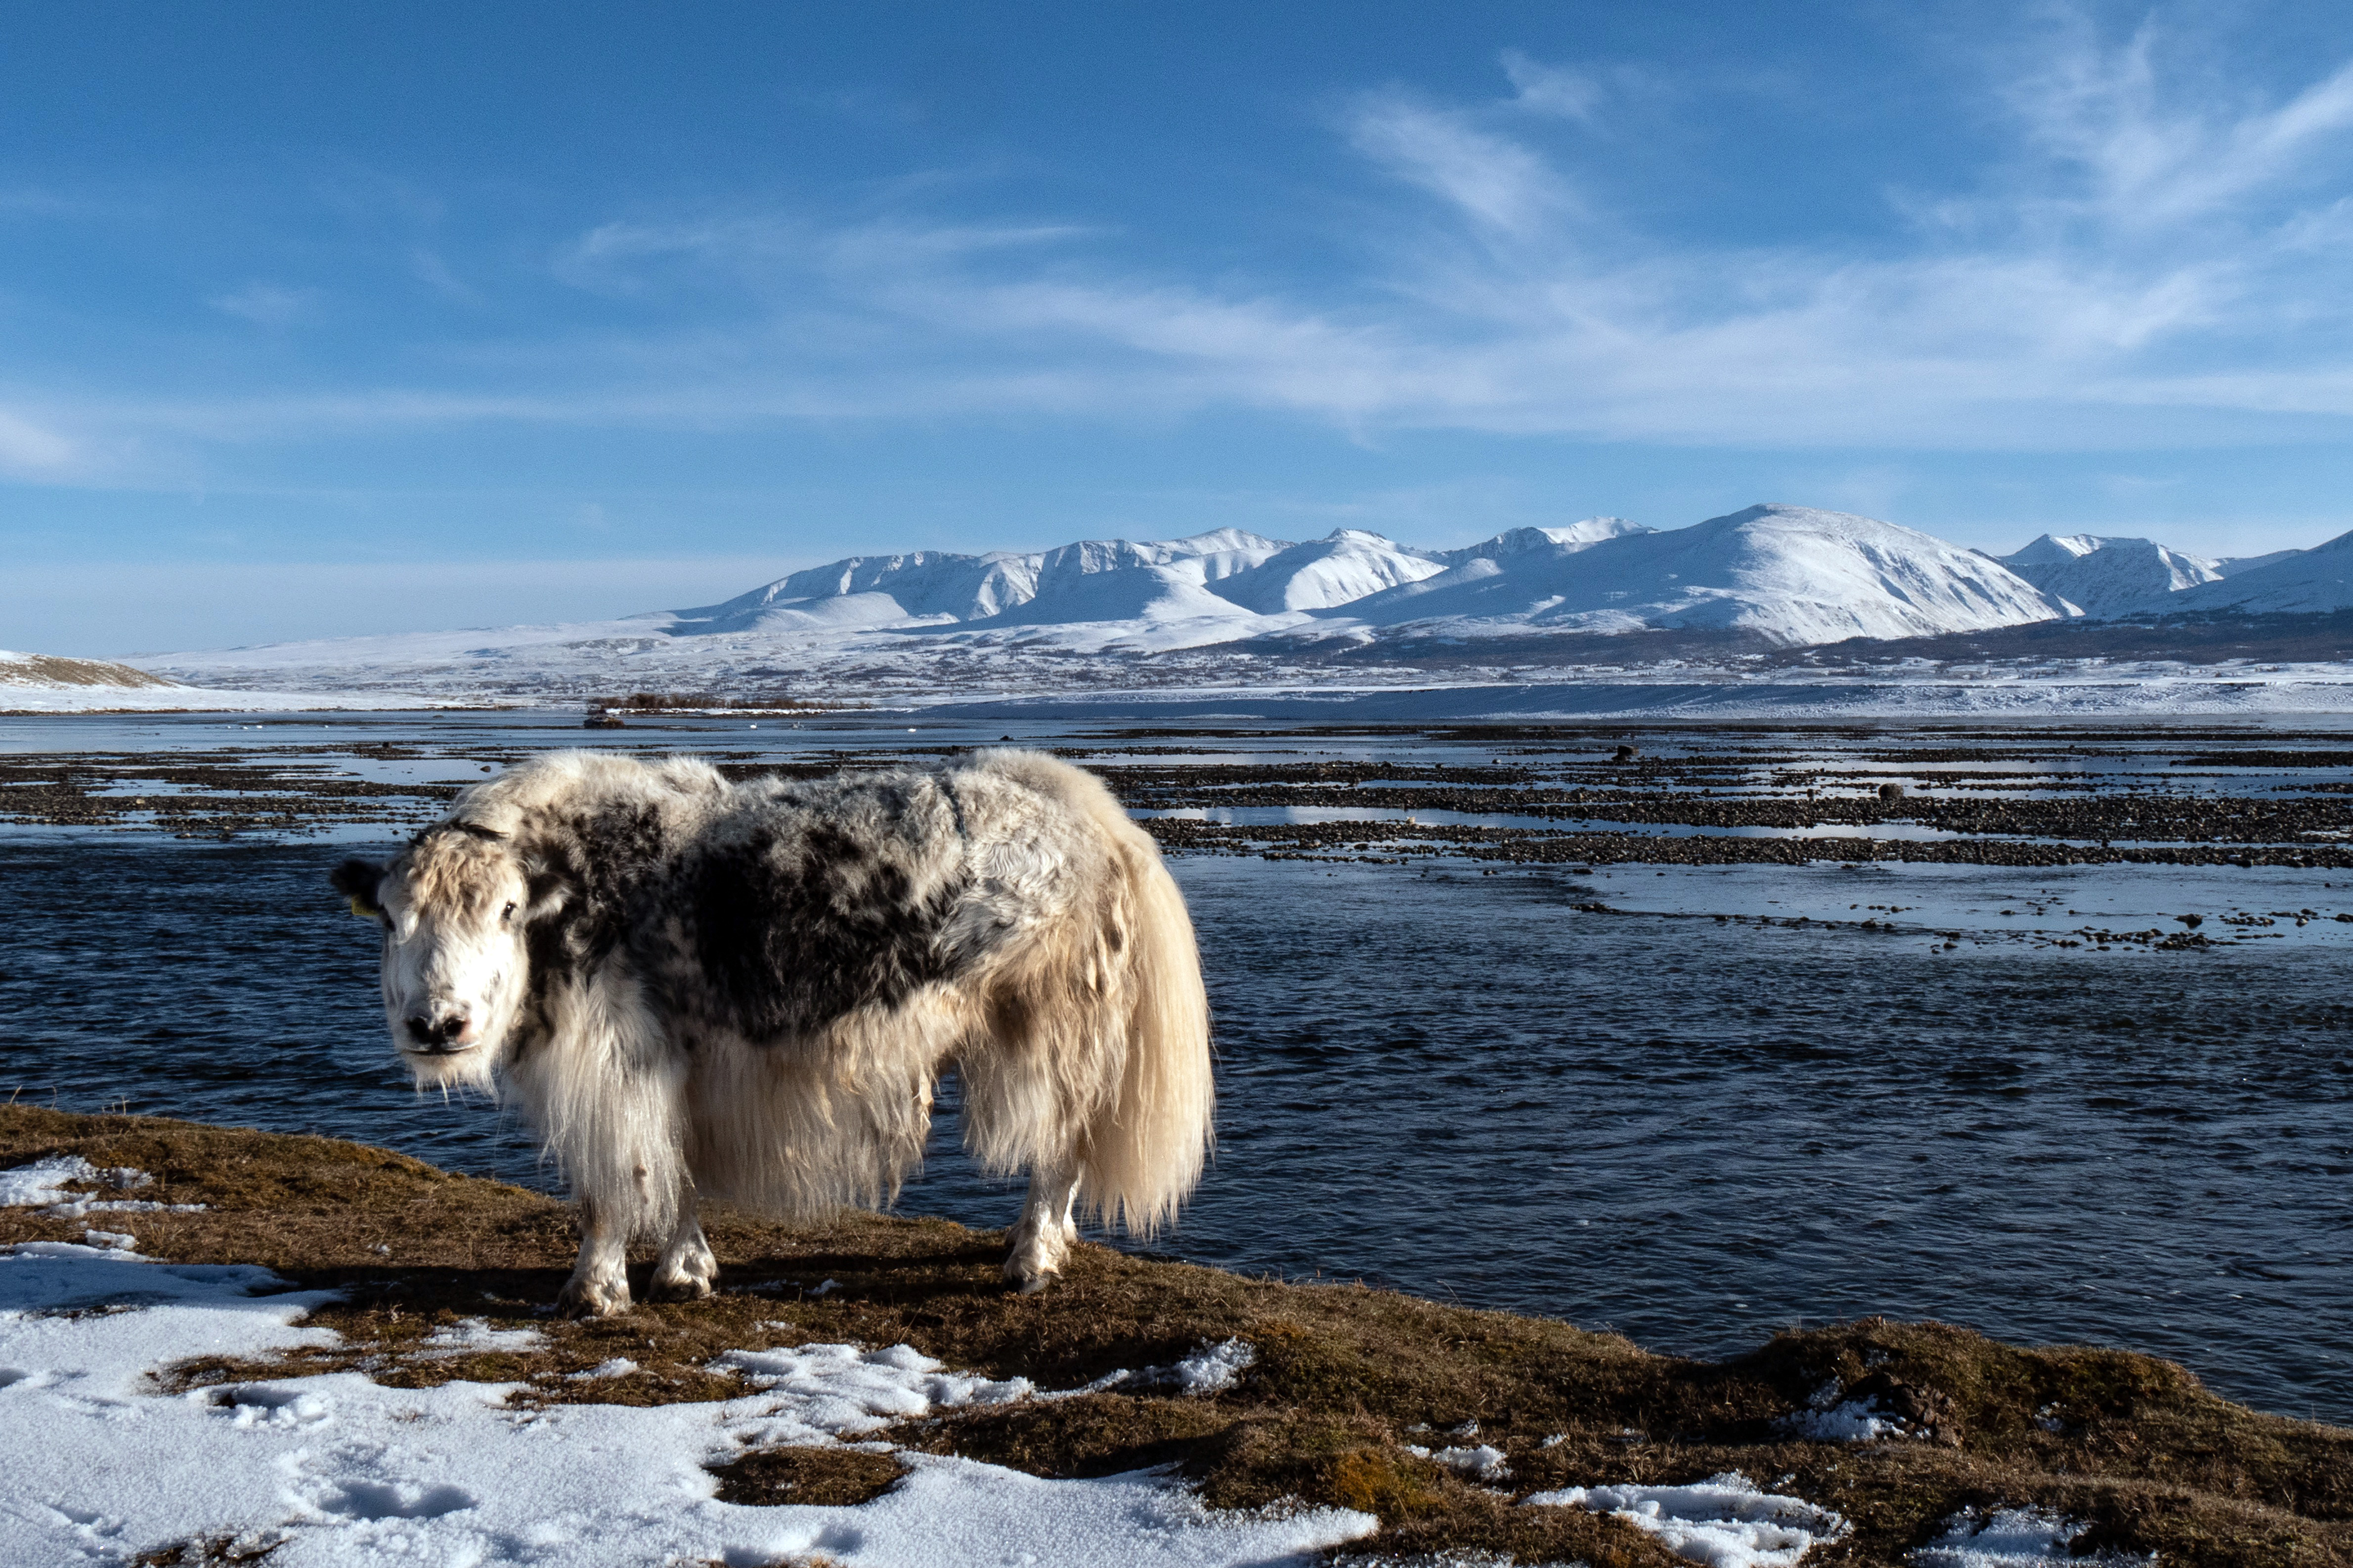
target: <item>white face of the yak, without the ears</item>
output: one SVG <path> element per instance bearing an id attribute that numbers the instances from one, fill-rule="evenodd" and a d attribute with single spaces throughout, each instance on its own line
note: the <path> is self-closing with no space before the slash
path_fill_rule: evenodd
<path id="1" fill-rule="evenodd" d="M 522 875 L 504 858 L 475 870 L 489 879 L 468 889 L 464 907 L 414 898 L 398 867 L 376 886 L 384 1018 L 419 1086 L 487 1091 L 529 983 Z"/>

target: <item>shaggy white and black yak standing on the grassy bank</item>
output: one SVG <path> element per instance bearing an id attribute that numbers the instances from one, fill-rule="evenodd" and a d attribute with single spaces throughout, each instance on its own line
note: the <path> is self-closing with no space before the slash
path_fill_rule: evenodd
<path id="1" fill-rule="evenodd" d="M 1209 1009 L 1184 898 L 1092 776 L 1038 752 L 941 771 L 729 783 L 562 752 L 473 785 L 336 886 L 384 924 L 384 1004 L 419 1086 L 511 1098 L 574 1187 L 565 1305 L 706 1295 L 694 1218 L 899 1192 L 932 1086 L 1031 1173 L 1007 1279 L 1042 1288 L 1080 1208 L 1153 1232 L 1209 1147 Z"/>

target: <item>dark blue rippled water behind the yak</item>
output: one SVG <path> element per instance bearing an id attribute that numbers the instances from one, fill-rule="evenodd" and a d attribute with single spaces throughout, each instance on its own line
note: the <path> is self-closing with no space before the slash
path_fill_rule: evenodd
<path id="1" fill-rule="evenodd" d="M 581 738 L 513 717 L 28 724 L 0 750 L 259 745 L 442 780 Z M 414 755 L 334 750 L 393 733 Z M 864 719 L 758 745 L 847 757 L 1000 733 L 911 741 Z M 1054 736 L 1075 745 L 1021 738 Z M 751 733 L 628 741 L 741 750 Z M 1139 750 L 1085 741 L 1106 762 Z M 1153 745 L 1155 766 L 1468 766 L 1499 748 L 1273 731 Z M 2144 762 L 2118 776 L 2165 788 Z M 2334 778 L 2311 755 L 2235 773 L 2249 799 L 2320 799 Z M 2209 792 L 2214 776 L 2179 788 Z M 1369 816 L 1362 832 L 1388 830 Z M 374 931 L 325 886 L 369 837 L 398 832 L 341 818 L 231 842 L 0 830 L 0 1095 L 318 1131 L 553 1185 L 501 1112 L 419 1098 L 391 1060 Z M 1685 1354 L 1791 1324 L 1937 1316 L 2165 1354 L 2259 1408 L 2353 1422 L 2353 924 L 2334 919 L 2353 912 L 2353 875 L 1482 865 L 1442 849 L 1172 858 L 1202 938 L 1221 1110 L 1209 1175 L 1155 1251 L 1562 1316 Z M 2221 940 L 2068 936 L 2179 933 L 2195 910 Z M 1007 1222 L 1019 1192 L 974 1175 L 953 1088 L 946 1107 L 901 1208 Z"/>

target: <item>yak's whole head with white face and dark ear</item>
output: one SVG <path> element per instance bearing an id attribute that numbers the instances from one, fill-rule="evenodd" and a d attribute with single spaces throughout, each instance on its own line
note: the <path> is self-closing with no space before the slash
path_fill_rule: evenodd
<path id="1" fill-rule="evenodd" d="M 560 893 L 532 896 L 525 865 L 487 827 L 428 827 L 391 863 L 344 860 L 334 889 L 384 926 L 384 1018 L 416 1084 L 492 1086 L 529 992 L 529 922 Z"/>

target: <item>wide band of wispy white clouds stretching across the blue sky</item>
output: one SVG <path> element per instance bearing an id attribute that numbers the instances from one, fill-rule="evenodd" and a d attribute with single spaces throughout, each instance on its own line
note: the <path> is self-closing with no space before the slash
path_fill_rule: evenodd
<path id="1" fill-rule="evenodd" d="M 1694 242 L 1612 209 L 1607 73 L 1497 61 L 1497 92 L 1339 106 L 1367 183 L 1322 277 L 1188 273 L 1087 221 L 739 205 L 544 252 L 567 331 L 438 346 L 442 386 L 19 400 L 12 473 L 61 428 L 186 442 L 424 423 L 748 425 L 1268 409 L 1362 440 L 1457 428 L 1692 444 L 2247 442 L 2353 416 L 2353 63 L 2259 99 L 2155 26 L 2059 16 L 1979 94 L 2000 148 L 1889 193 L 1864 240 Z M 2195 66 L 2195 68 L 2191 68 Z M 1435 200 L 1433 200 L 1435 197 Z M 972 183 L 955 190 L 969 214 Z M 1339 228 L 1339 226 L 1334 226 Z M 466 289 L 440 249 L 416 277 Z M 318 296 L 212 306 L 264 327 Z M 593 327 L 588 322 L 595 322 Z M 64 444 L 59 444 L 64 442 Z"/>

